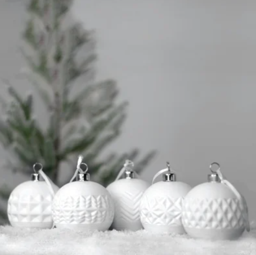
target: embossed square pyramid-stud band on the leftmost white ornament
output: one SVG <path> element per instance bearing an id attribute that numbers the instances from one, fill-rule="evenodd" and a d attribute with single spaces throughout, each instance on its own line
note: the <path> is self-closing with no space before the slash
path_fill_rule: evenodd
<path id="1" fill-rule="evenodd" d="M 10 222 L 50 223 L 52 222 L 52 195 L 11 194 L 7 213 Z"/>

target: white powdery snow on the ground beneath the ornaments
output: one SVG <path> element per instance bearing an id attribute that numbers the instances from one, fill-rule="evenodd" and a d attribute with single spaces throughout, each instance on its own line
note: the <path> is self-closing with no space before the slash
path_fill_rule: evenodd
<path id="1" fill-rule="evenodd" d="M 0 227 L 1 255 L 255 255 L 256 224 L 236 241 L 203 241 L 187 235 L 137 232 L 75 232 Z"/>

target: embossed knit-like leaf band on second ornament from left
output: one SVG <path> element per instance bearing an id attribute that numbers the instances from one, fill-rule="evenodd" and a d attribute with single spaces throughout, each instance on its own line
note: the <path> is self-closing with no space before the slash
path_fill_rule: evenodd
<path id="1" fill-rule="evenodd" d="M 100 224 L 114 216 L 107 195 L 55 197 L 52 217 L 55 224 Z"/>

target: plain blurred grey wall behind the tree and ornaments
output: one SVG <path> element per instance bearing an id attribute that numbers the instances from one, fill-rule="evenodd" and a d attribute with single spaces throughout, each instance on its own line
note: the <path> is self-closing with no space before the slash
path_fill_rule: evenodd
<path id="1" fill-rule="evenodd" d="M 0 75 L 23 96 L 34 90 L 17 76 L 26 66 L 19 52 L 25 2 L 0 2 Z M 177 178 L 192 186 L 205 182 L 209 165 L 218 162 L 255 220 L 255 11 L 254 1 L 75 0 L 70 20 L 95 30 L 96 79 L 116 80 L 117 102 L 129 102 L 122 135 L 101 157 L 134 147 L 141 154 L 157 150 L 140 175 L 151 181 L 169 160 Z M 6 86 L 0 90 L 4 95 Z M 44 126 L 48 117 L 37 97 L 34 108 Z M 74 170 L 63 165 L 59 182 Z M 4 166 L 0 171 L 10 189 L 28 179 Z"/>

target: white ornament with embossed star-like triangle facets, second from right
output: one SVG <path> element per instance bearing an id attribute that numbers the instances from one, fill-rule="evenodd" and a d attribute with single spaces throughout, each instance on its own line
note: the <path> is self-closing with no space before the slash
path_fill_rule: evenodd
<path id="1" fill-rule="evenodd" d="M 160 174 L 163 174 L 163 181 L 153 184 Z M 167 162 L 167 168 L 154 176 L 152 185 L 142 197 L 140 219 L 143 227 L 156 233 L 184 234 L 181 223 L 182 204 L 190 189 L 188 184 L 176 181 Z"/>

